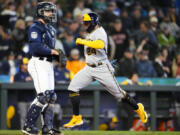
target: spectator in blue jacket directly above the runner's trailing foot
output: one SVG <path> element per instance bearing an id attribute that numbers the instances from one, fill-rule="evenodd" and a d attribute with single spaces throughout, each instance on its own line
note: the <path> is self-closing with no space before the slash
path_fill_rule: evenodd
<path id="1" fill-rule="evenodd" d="M 148 59 L 147 52 L 141 51 L 139 53 L 139 60 L 136 64 L 136 69 L 139 77 L 156 77 L 152 62 Z"/>

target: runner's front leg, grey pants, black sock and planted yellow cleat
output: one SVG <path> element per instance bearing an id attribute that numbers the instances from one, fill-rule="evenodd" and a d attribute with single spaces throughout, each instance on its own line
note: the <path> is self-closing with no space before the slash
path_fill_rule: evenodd
<path id="1" fill-rule="evenodd" d="M 64 124 L 65 128 L 72 128 L 83 124 L 82 115 L 79 114 L 80 94 L 79 90 L 92 82 L 92 77 L 87 67 L 78 72 L 71 81 L 68 90 L 73 107 L 73 116 L 70 122 Z"/>

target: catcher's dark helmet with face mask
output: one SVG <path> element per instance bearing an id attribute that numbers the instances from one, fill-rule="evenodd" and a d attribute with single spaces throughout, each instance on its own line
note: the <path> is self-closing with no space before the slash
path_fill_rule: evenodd
<path id="1" fill-rule="evenodd" d="M 52 16 L 45 16 L 44 11 L 52 11 Z M 36 16 L 42 18 L 46 23 L 57 22 L 56 5 L 51 2 L 39 2 L 36 9 Z"/>

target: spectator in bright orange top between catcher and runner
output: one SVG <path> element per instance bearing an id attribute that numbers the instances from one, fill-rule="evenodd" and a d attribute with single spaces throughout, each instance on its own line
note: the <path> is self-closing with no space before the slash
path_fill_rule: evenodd
<path id="1" fill-rule="evenodd" d="M 85 61 L 80 59 L 79 50 L 72 49 L 70 57 L 66 63 L 66 69 L 68 69 L 73 75 L 75 75 L 77 72 L 83 69 L 85 65 Z"/>

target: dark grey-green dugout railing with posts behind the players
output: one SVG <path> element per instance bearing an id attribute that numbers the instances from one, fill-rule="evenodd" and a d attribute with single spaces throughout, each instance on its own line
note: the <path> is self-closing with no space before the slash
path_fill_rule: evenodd
<path id="1" fill-rule="evenodd" d="M 58 84 L 55 90 L 67 90 L 68 84 Z M 126 91 L 148 92 L 150 96 L 149 113 L 150 113 L 150 128 L 156 130 L 157 125 L 157 93 L 165 92 L 180 92 L 180 86 L 121 86 Z M 8 92 L 12 90 L 34 90 L 32 83 L 0 83 L 0 129 L 7 129 L 6 126 L 6 110 L 8 106 Z M 93 92 L 93 129 L 97 130 L 99 125 L 99 105 L 100 93 L 105 89 L 98 85 L 92 84 L 84 88 L 82 91 Z M 23 94 L 23 93 L 22 93 Z M 171 97 L 169 97 L 171 98 Z"/>

